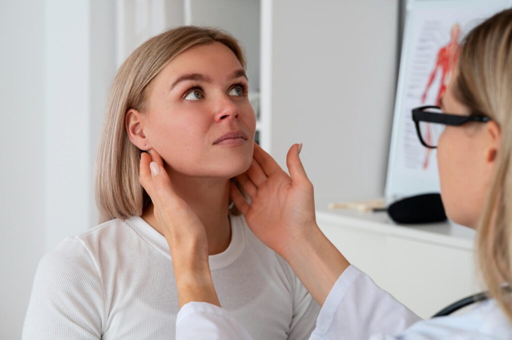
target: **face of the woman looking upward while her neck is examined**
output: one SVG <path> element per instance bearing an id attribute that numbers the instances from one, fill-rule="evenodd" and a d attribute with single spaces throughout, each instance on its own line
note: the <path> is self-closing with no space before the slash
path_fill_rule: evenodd
<path id="1" fill-rule="evenodd" d="M 214 42 L 190 48 L 155 77 L 141 115 L 147 146 L 167 170 L 230 178 L 252 161 L 254 110 L 233 52 Z"/>

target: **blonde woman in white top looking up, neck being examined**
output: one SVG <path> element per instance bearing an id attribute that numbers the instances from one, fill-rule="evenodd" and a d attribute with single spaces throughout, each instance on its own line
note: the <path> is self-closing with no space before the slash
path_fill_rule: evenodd
<path id="1" fill-rule="evenodd" d="M 175 338 L 186 302 L 177 288 L 194 279 L 173 275 L 190 263 L 184 254 L 206 263 L 200 269 L 215 284 L 217 303 L 253 338 L 309 337 L 319 306 L 289 265 L 229 210 L 230 178 L 252 162 L 255 116 L 247 86 L 239 43 L 216 29 L 176 28 L 126 59 L 112 85 L 96 160 L 101 224 L 42 258 L 24 339 Z M 166 220 L 200 224 L 199 251 L 190 238 L 171 239 L 162 227 L 161 209 L 139 182 L 146 152 L 179 198 Z"/>

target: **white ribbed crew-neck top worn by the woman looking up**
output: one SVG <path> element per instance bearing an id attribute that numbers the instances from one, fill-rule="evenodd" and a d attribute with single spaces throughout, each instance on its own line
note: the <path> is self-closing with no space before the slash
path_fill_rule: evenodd
<path id="1" fill-rule="evenodd" d="M 288 264 L 230 215 L 210 256 L 223 308 L 256 339 L 306 339 L 319 306 Z M 23 339 L 174 339 L 178 295 L 165 238 L 139 216 L 61 241 L 37 267 Z"/>

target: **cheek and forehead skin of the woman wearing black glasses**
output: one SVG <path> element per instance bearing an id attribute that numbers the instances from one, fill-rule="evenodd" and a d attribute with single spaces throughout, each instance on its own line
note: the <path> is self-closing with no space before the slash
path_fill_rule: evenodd
<path id="1" fill-rule="evenodd" d="M 454 95 L 457 77 L 458 71 L 446 88 L 441 108 L 448 114 L 468 116 L 468 108 Z M 496 141 L 489 133 L 488 124 L 447 125 L 437 146 L 441 197 L 446 215 L 471 228 L 475 228 L 480 216 L 494 169 Z"/>

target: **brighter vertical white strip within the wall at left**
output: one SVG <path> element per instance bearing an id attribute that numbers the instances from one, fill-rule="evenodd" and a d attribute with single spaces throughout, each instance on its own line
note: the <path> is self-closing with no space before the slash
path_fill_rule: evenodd
<path id="1" fill-rule="evenodd" d="M 91 225 L 87 0 L 46 2 L 46 245 Z M 73 202 L 73 203 L 71 203 Z"/>

